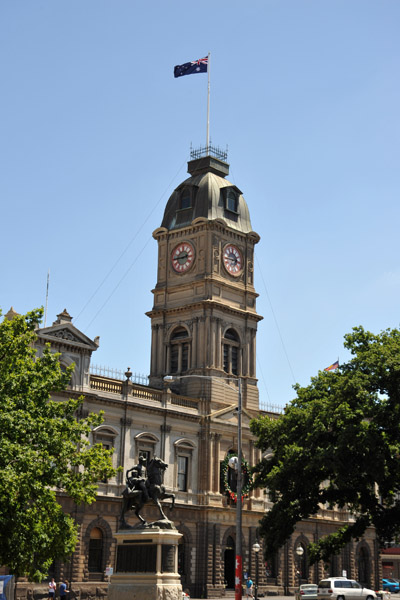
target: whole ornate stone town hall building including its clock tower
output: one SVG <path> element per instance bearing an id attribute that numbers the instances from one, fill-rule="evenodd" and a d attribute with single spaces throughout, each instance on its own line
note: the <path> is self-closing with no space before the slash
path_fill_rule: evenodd
<path id="1" fill-rule="evenodd" d="M 168 517 L 182 534 L 179 571 L 182 587 L 195 598 L 232 595 L 236 541 L 235 481 L 227 457 L 237 453 L 237 404 L 242 390 L 242 452 L 249 469 L 262 459 L 249 422 L 260 414 L 256 376 L 257 292 L 254 249 L 260 237 L 251 225 L 242 191 L 229 182 L 226 156 L 193 154 L 189 177 L 172 193 L 153 237 L 158 261 L 151 327 L 148 385 L 99 375 L 91 369 L 98 340 L 79 331 L 67 310 L 53 325 L 37 331 L 40 353 L 46 343 L 61 353 L 61 364 L 75 363 L 68 390 L 56 397 L 84 396 L 81 414 L 104 411 L 104 423 L 92 442 L 114 448 L 121 472 L 99 482 L 97 501 L 75 506 L 60 502 L 79 523 L 79 543 L 71 560 L 53 565 L 56 580 L 71 582 L 80 598 L 104 596 L 106 568 L 115 565 L 125 473 L 139 456 L 161 457 L 168 468 L 164 484 L 175 494 Z M 166 379 L 167 377 L 167 379 Z M 279 415 L 273 411 L 271 418 Z M 296 532 L 270 563 L 253 552 L 258 523 L 271 507 L 265 490 L 245 482 L 242 509 L 243 570 L 259 576 L 259 593 L 291 594 L 300 579 L 317 583 L 341 575 L 375 589 L 380 579 L 379 552 L 373 530 L 350 543 L 331 564 L 309 566 L 307 545 L 349 520 L 343 510 L 322 507 L 299 523 Z M 167 507 L 168 501 L 165 502 Z M 144 511 L 156 517 L 149 504 Z M 132 513 L 131 525 L 137 521 Z M 301 546 L 301 559 L 296 548 Z M 298 562 L 300 560 L 300 562 Z M 26 584 L 27 587 L 29 584 Z M 377 589 L 377 588 L 376 588 Z"/>

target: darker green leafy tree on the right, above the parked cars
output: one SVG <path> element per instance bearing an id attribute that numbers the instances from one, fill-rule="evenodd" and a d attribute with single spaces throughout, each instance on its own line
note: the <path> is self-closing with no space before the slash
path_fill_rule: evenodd
<path id="1" fill-rule="evenodd" d="M 382 544 L 400 533 L 400 331 L 356 327 L 344 339 L 346 364 L 294 386 L 297 398 L 277 420 L 251 422 L 267 452 L 255 485 L 274 503 L 261 521 L 268 556 L 324 504 L 348 509 L 354 522 L 311 544 L 311 563 L 370 525 Z"/>

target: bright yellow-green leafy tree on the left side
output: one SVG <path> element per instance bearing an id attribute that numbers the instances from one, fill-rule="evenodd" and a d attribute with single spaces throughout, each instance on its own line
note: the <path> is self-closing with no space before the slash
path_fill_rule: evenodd
<path id="1" fill-rule="evenodd" d="M 115 474 L 112 451 L 88 441 L 102 415 L 78 420 L 82 398 L 50 397 L 66 388 L 72 369 L 63 372 L 48 347 L 35 356 L 41 318 L 37 309 L 0 323 L 0 564 L 32 581 L 66 559 L 77 541 L 77 525 L 57 492 L 91 503 L 96 482 Z"/>

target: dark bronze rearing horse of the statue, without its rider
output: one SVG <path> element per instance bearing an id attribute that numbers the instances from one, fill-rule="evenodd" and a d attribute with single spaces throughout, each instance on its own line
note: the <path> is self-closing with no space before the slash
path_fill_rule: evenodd
<path id="1" fill-rule="evenodd" d="M 168 494 L 165 491 L 165 486 L 163 485 L 164 472 L 167 467 L 167 463 L 164 462 L 161 458 L 158 458 L 157 456 L 155 456 L 152 460 L 149 461 L 149 464 L 146 468 L 147 479 L 145 482 L 147 498 L 145 497 L 145 494 L 142 490 L 132 490 L 127 482 L 127 486 L 122 493 L 122 510 L 119 521 L 121 528 L 131 528 L 131 526 L 128 525 L 128 523 L 125 520 L 125 514 L 128 510 L 134 510 L 135 515 L 140 520 L 141 524 L 146 525 L 147 522 L 140 514 L 140 511 L 142 510 L 146 502 L 149 502 L 150 500 L 152 500 L 154 504 L 156 504 L 156 506 L 158 507 L 161 518 L 168 521 L 160 503 L 161 500 L 170 498 L 172 500 L 172 504 L 170 507 L 171 510 L 174 508 L 175 505 L 175 494 Z"/>

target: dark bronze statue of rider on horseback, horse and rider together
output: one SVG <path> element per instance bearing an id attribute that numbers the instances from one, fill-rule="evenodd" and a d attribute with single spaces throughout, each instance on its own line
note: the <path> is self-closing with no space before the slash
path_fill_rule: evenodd
<path id="1" fill-rule="evenodd" d="M 150 500 L 156 504 L 161 519 L 170 523 L 160 502 L 170 498 L 172 500 L 170 509 L 174 508 L 175 494 L 168 494 L 163 485 L 164 472 L 167 467 L 167 463 L 157 456 L 152 458 L 146 465 L 146 458 L 141 455 L 139 456 L 139 463 L 128 469 L 126 472 L 126 488 L 122 493 L 122 510 L 119 521 L 121 529 L 132 528 L 125 520 L 125 514 L 129 510 L 135 512 L 141 527 L 150 527 L 151 525 L 140 514 L 143 506 Z"/>

